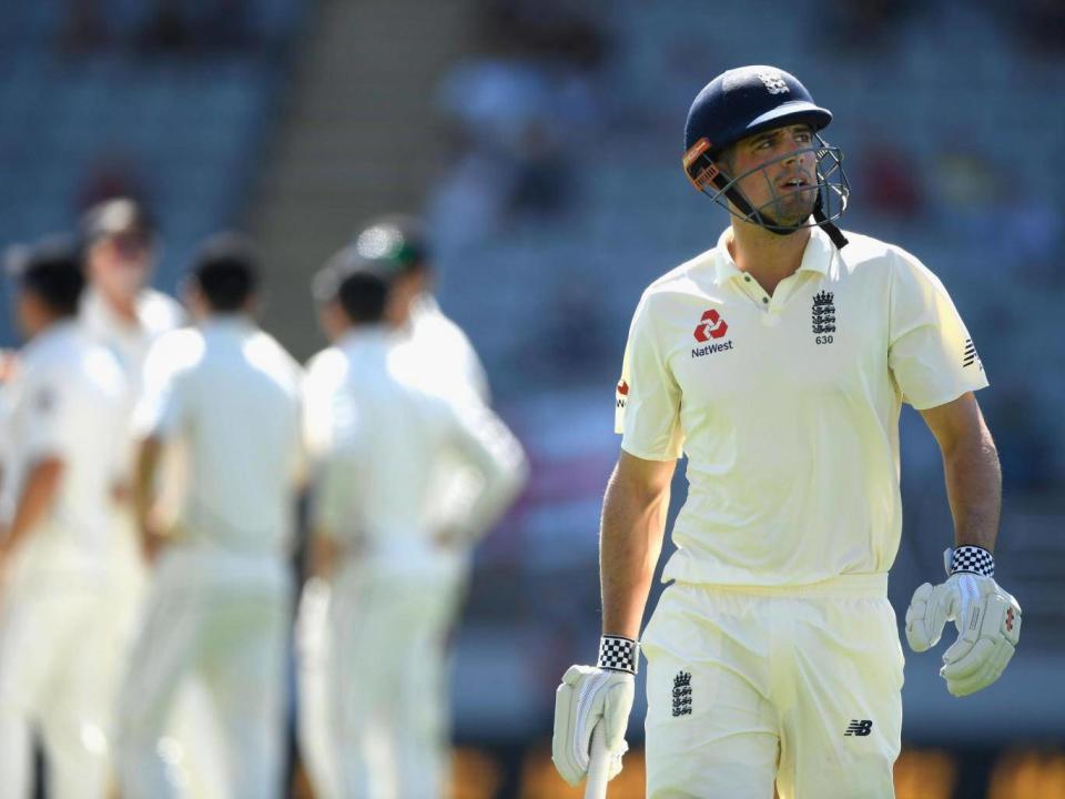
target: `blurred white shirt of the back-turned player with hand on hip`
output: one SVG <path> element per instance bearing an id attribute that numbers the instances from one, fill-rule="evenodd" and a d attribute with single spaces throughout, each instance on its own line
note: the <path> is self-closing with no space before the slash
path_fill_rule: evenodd
<path id="1" fill-rule="evenodd" d="M 434 542 L 442 532 L 434 506 L 442 458 L 457 454 L 485 475 L 460 520 L 477 534 L 520 484 L 524 457 L 487 406 L 430 392 L 412 374 L 403 346 L 384 328 L 357 328 L 308 364 L 313 513 L 323 532 L 376 568 L 435 573 L 453 568 L 452 554 Z"/>

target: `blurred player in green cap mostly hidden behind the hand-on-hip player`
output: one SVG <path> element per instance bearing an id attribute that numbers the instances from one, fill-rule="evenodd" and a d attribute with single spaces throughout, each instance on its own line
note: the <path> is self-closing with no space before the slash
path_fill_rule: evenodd
<path id="1" fill-rule="evenodd" d="M 399 214 L 381 216 L 368 222 L 353 240 L 354 252 L 376 265 L 389 283 L 385 316 L 395 330 L 395 342 L 402 346 L 398 363 L 412 380 L 419 381 L 434 393 L 444 393 L 457 403 L 487 405 L 490 401 L 485 368 L 469 338 L 440 311 L 433 295 L 432 254 L 418 220 Z M 430 526 L 447 524 L 468 506 L 469 496 L 478 490 L 480 476 L 458 454 L 442 452 L 435 461 L 433 499 L 427 503 Z M 469 581 L 474 542 L 440 553 L 440 568 L 450 569 L 450 585 L 457 607 Z M 445 564 L 446 562 L 446 564 Z M 443 580 L 442 580 L 443 583 Z M 300 603 L 297 628 L 300 669 L 300 728 L 304 763 L 315 785 L 335 783 L 329 773 L 328 697 L 325 676 L 329 657 L 325 628 L 328 587 L 324 580 L 311 579 Z M 320 756 L 321 754 L 321 756 Z"/>

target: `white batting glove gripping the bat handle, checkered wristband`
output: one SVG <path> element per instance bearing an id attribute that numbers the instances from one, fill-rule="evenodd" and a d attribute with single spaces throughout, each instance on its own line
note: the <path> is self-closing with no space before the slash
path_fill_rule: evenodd
<path id="1" fill-rule="evenodd" d="M 562 779 L 578 785 L 588 773 L 591 734 L 604 726 L 610 765 L 608 779 L 621 772 L 621 756 L 629 749 L 625 731 L 636 695 L 639 644 L 604 636 L 598 666 L 570 666 L 555 691 L 555 734 L 551 760 Z"/>

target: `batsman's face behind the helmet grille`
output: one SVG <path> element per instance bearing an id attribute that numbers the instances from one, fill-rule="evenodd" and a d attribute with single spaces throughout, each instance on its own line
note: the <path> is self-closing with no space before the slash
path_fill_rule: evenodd
<path id="1" fill-rule="evenodd" d="M 737 142 L 728 156 L 729 176 L 751 208 L 771 225 L 802 225 L 818 195 L 813 129 L 807 124 L 762 131 Z"/>

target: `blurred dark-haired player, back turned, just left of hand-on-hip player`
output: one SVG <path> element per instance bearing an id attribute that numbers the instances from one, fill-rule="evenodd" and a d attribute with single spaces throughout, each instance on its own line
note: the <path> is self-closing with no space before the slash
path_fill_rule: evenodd
<path id="1" fill-rule="evenodd" d="M 302 372 L 252 320 L 257 280 L 246 242 L 211 240 L 189 276 L 195 330 L 161 338 L 145 367 L 134 506 L 155 567 L 120 701 L 128 799 L 176 793 L 159 745 L 193 676 L 221 727 L 221 793 L 281 792 Z M 170 523 L 156 477 L 175 439 L 187 447 L 190 487 Z"/>

